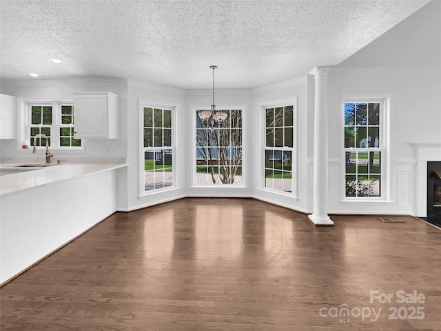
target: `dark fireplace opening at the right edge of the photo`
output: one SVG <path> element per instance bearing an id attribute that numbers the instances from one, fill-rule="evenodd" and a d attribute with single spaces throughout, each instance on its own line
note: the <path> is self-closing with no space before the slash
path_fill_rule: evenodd
<path id="1" fill-rule="evenodd" d="M 441 162 L 427 162 L 427 218 L 441 222 Z"/>

